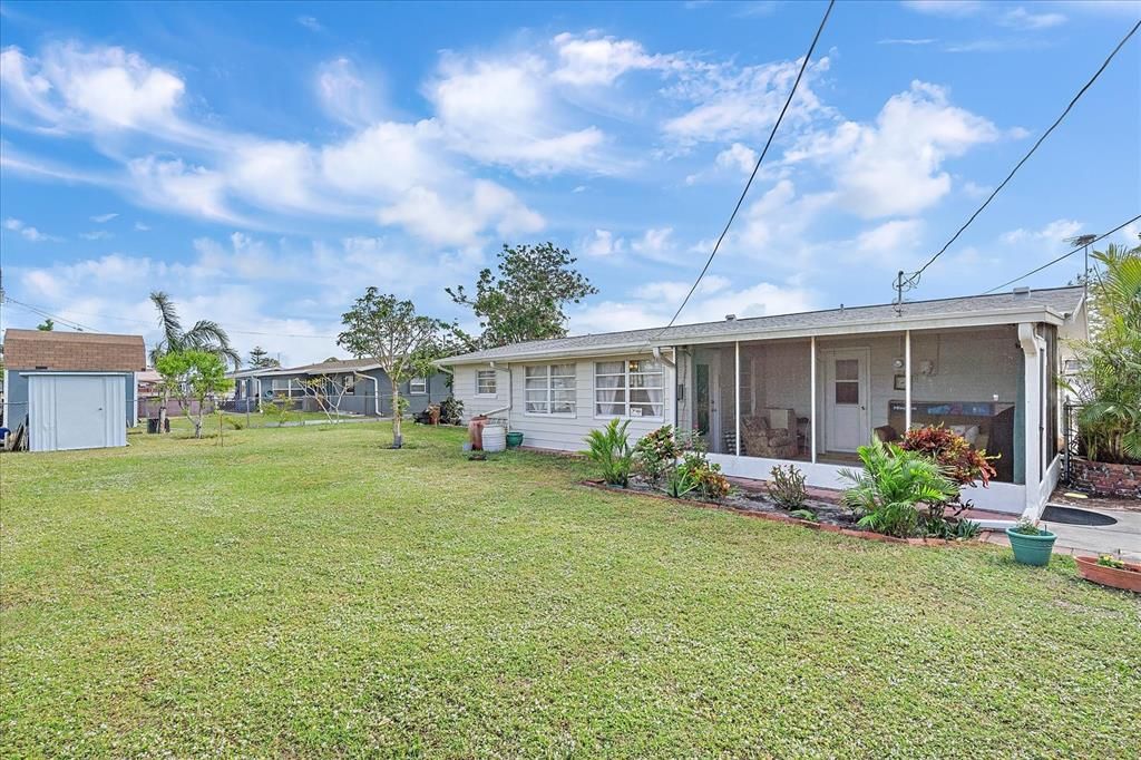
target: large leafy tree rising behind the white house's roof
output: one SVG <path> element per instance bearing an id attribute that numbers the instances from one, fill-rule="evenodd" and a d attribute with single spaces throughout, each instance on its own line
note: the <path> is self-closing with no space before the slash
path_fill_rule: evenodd
<path id="1" fill-rule="evenodd" d="M 456 330 L 468 348 L 494 348 L 525 340 L 563 338 L 567 334 L 567 304 L 577 304 L 598 292 L 572 266 L 570 251 L 552 243 L 503 245 L 497 274 L 479 273 L 475 296 L 463 285 L 446 288 L 452 300 L 471 308 L 479 318 L 478 338 Z"/>

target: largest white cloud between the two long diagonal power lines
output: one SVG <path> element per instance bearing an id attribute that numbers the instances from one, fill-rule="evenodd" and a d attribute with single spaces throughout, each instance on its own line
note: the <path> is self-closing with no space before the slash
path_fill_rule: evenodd
<path id="1" fill-rule="evenodd" d="M 830 167 L 840 202 L 855 213 L 911 215 L 950 191 L 947 159 L 998 137 L 992 122 L 950 105 L 944 88 L 914 81 L 884 104 L 874 124 L 848 121 L 809 135 L 785 160 Z"/>

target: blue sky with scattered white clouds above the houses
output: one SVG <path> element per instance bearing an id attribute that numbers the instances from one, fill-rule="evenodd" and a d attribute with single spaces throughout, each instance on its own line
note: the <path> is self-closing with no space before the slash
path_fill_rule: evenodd
<path id="1" fill-rule="evenodd" d="M 152 337 L 340 355 L 367 285 L 443 318 L 504 242 L 569 248 L 575 332 L 662 324 L 823 2 L 0 3 L 13 299 Z M 1141 17 L 1136 2 L 840 2 L 682 322 L 883 302 Z M 976 293 L 1141 207 L 1141 39 L 925 274 Z M 1127 240 L 1126 231 L 1117 236 Z M 1065 284 L 1073 264 L 1028 284 Z M 40 316 L 5 306 L 5 326 Z"/>

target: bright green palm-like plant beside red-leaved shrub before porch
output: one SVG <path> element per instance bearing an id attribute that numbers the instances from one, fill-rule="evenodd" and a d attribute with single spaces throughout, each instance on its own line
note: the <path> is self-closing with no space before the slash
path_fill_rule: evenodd
<path id="1" fill-rule="evenodd" d="M 917 504 L 937 504 L 955 499 L 958 486 L 923 454 L 904 451 L 873 437 L 858 450 L 864 469 L 842 469 L 841 477 L 852 487 L 844 503 L 860 518 L 858 525 L 895 536 L 914 535 L 920 525 Z"/>

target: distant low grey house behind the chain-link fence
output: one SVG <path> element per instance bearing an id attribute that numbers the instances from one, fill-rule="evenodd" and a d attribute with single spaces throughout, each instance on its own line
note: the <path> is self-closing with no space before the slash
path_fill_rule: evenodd
<path id="1" fill-rule="evenodd" d="M 253 411 L 259 399 L 289 397 L 310 412 L 321 407 L 311 395 L 306 395 L 301 383 L 316 378 L 329 378 L 330 399 L 335 402 L 340 389 L 348 389 L 341 396 L 339 410 L 348 414 L 390 417 L 393 413 L 393 383 L 388 374 L 371 359 L 337 359 L 302 366 L 270 366 L 257 370 L 232 372 L 234 379 L 234 405 L 238 411 Z M 452 391 L 448 375 L 436 372 L 428 378 L 413 378 L 400 383 L 400 396 L 406 398 L 407 414 L 419 414 L 429 404 L 438 404 Z"/>

